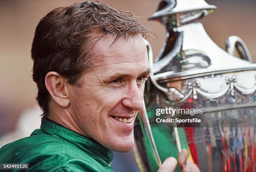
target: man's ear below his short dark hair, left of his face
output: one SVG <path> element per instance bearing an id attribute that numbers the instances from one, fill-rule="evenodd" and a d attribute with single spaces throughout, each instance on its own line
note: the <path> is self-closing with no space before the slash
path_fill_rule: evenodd
<path id="1" fill-rule="evenodd" d="M 45 76 L 45 86 L 51 98 L 62 107 L 69 105 L 67 81 L 57 72 L 48 72 Z"/>

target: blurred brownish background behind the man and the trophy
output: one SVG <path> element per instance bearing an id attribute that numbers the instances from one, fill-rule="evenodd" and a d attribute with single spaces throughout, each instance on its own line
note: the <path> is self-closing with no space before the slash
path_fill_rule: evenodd
<path id="1" fill-rule="evenodd" d="M 237 35 L 245 41 L 253 61 L 256 62 L 256 1 L 206 1 L 218 7 L 203 20 L 205 30 L 212 40 L 221 48 L 225 48 L 228 36 Z M 0 0 L 0 147 L 13 139 L 25 136 L 30 128 L 39 128 L 41 112 L 36 106 L 37 89 L 31 77 L 30 50 L 33 33 L 37 23 L 46 13 L 77 2 L 80 1 Z M 154 13 L 159 2 L 160 0 L 100 0 L 100 3 L 134 13 L 143 25 L 154 31 L 157 39 L 151 38 L 150 42 L 155 57 L 164 41 L 165 29 L 160 23 L 148 21 L 147 18 Z M 21 114 L 31 115 L 20 119 Z M 22 122 L 18 122 L 22 120 L 29 121 L 33 127 L 23 126 Z M 16 132 L 15 135 L 6 137 L 8 133 L 14 134 L 15 129 L 25 132 Z M 128 155 L 128 158 L 134 161 L 131 152 Z M 115 159 L 115 163 L 123 162 Z"/>

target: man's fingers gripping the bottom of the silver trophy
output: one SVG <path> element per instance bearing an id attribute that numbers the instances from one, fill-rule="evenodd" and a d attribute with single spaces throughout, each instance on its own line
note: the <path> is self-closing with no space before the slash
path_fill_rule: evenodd
<path id="1" fill-rule="evenodd" d="M 178 157 L 179 166 L 181 168 L 181 172 L 200 172 L 200 169 L 197 165 L 187 159 L 187 150 L 182 149 L 182 152 Z M 164 163 L 158 169 L 157 172 L 174 172 L 174 169 L 177 165 L 177 160 L 174 157 L 168 157 L 165 159 Z"/>

